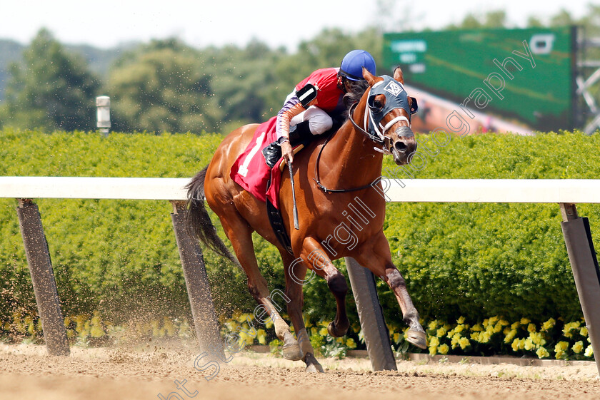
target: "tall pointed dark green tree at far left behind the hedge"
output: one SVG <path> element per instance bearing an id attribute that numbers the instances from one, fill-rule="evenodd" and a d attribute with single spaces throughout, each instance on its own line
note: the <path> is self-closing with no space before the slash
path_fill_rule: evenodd
<path id="1" fill-rule="evenodd" d="M 94 127 L 97 79 L 79 56 L 67 53 L 49 31 L 41 29 L 25 48 L 22 63 L 12 63 L 4 125 L 48 130 Z"/>

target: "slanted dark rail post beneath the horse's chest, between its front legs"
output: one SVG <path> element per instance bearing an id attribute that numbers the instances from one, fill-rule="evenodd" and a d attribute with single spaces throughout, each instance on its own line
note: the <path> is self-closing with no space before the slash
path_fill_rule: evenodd
<path id="1" fill-rule="evenodd" d="M 396 370 L 396 359 L 391 351 L 389 330 L 379 304 L 373 272 L 362 267 L 354 258 L 346 257 L 346 269 L 359 312 L 366 352 L 374 371 Z"/>

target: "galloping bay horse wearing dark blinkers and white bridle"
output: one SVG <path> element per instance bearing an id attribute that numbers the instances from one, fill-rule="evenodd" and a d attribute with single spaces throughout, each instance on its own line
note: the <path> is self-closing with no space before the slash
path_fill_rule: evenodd
<path id="1" fill-rule="evenodd" d="M 413 103 L 416 109 L 416 100 L 404 93 L 404 101 L 411 105 L 410 108 L 390 106 L 395 101 L 391 93 L 402 96 L 400 92 L 404 91 L 404 86 L 399 85 L 404 84 L 399 69 L 394 71 L 394 78 L 385 77 L 395 83 L 394 87 L 387 83 L 386 89 L 395 89 L 391 91 L 381 90 L 384 77 L 373 76 L 364 68 L 363 76 L 366 83 L 359 93 L 354 93 L 348 120 L 334 135 L 315 140 L 294 157 L 299 230 L 291 229 L 294 207 L 291 180 L 289 174 L 282 177 L 279 207 L 294 255 L 276 238 L 266 214 L 265 203 L 230 178 L 231 166 L 249 145 L 258 124 L 244 125 L 229 133 L 216 149 L 209 165 L 186 186 L 191 234 L 246 272 L 249 292 L 259 303 L 258 307 L 271 317 L 277 337 L 284 342 L 284 357 L 302 359 L 306 363 L 306 371 L 322 372 L 323 369 L 314 357 L 314 349 L 304 327 L 302 283 L 305 282 L 307 269 L 326 280 L 336 299 L 336 317 L 327 330 L 334 337 L 344 336 L 349 328 L 346 316 L 348 285 L 345 277 L 331 263 L 331 260 L 341 257 L 354 257 L 360 265 L 369 268 L 376 277 L 389 284 L 399 302 L 404 322 L 409 325 L 407 340 L 417 347 L 426 348 L 426 336 L 419 324 L 419 313 L 406 290 L 404 278 L 391 262 L 389 243 L 383 232 L 386 204 L 378 180 L 381 179 L 384 153 L 393 155 L 396 164 L 404 165 L 410 162 L 416 151 L 416 140 L 410 129 L 410 111 Z M 371 93 L 375 86 L 379 87 L 379 94 Z M 346 96 L 351 98 L 352 93 Z M 381 128 L 375 128 L 376 135 L 369 133 L 373 130 L 373 124 L 369 124 L 366 117 L 372 120 L 377 112 L 384 115 L 375 118 L 379 119 L 377 122 Z M 315 177 L 311 176 L 311 171 L 315 171 Z M 364 210 L 368 210 L 366 214 L 371 217 L 370 221 L 363 215 L 363 220 L 359 222 L 358 217 L 350 219 L 347 212 L 341 212 L 357 198 L 364 205 Z M 216 235 L 204 207 L 205 199 L 219 217 L 237 258 Z M 343 234 L 339 230 L 341 226 L 345 229 Z M 287 312 L 294 324 L 297 339 L 294 339 L 289 325 L 281 318 L 269 297 L 266 280 L 259 271 L 254 254 L 254 231 L 275 245 L 281 254 L 286 301 L 289 300 Z M 351 245 L 348 245 L 349 241 L 336 242 L 331 236 L 335 232 L 338 239 L 341 235 L 346 238 L 354 235 L 356 240 L 353 239 Z"/>

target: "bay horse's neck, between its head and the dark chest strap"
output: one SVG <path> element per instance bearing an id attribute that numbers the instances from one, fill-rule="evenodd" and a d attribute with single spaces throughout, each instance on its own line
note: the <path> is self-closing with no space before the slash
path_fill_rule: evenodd
<path id="1" fill-rule="evenodd" d="M 354 118 L 359 126 L 363 124 L 364 104 L 356 107 Z M 374 150 L 374 145 L 347 120 L 327 145 L 334 160 L 329 172 L 339 178 L 344 188 L 368 185 L 381 176 L 383 165 L 383 154 Z"/>

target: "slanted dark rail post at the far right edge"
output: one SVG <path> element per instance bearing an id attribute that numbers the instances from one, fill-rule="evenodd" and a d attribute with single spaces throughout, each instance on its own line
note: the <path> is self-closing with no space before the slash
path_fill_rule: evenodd
<path id="1" fill-rule="evenodd" d="M 579 302 L 600 375 L 600 270 L 594 242 L 591 240 L 589 220 L 577 215 L 574 204 L 561 203 L 561 214 L 566 251 L 569 253 Z"/>

